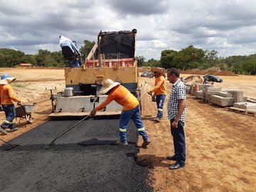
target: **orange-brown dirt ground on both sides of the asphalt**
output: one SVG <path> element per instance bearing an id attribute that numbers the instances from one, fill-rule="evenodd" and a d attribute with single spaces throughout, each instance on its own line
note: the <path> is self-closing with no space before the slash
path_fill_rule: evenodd
<path id="1" fill-rule="evenodd" d="M 12 84 L 17 97 L 26 104 L 37 102 L 33 110 L 33 124 L 21 119 L 20 129 L 0 139 L 9 141 L 46 122 L 51 111 L 50 91 L 62 91 L 65 85 L 62 69 L 0 69 L 17 78 Z M 186 77 L 186 75 L 181 75 Z M 227 76 L 223 83 L 215 83 L 228 89 L 240 89 L 247 97 L 256 97 L 256 76 Z M 154 85 L 154 79 L 142 78 L 144 92 Z M 171 84 L 166 82 L 168 94 Z M 166 101 L 168 96 L 166 97 Z M 174 153 L 170 123 L 164 118 L 154 122 L 156 103 L 149 95 L 142 97 L 142 118 L 151 138 L 147 149 L 140 149 L 138 161 L 146 162 L 154 191 L 255 191 L 256 188 L 256 119 L 250 115 L 226 111 L 191 95 L 187 98 L 186 166 L 176 171 L 168 169 L 171 161 L 166 156 Z M 0 120 L 4 113 L 0 112 Z M 139 139 L 142 144 L 142 139 Z"/>

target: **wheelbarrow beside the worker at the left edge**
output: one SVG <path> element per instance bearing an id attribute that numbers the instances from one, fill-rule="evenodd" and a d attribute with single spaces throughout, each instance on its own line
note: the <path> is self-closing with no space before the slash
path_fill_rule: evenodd
<path id="1" fill-rule="evenodd" d="M 33 123 L 33 117 L 32 117 L 32 111 L 34 109 L 34 107 L 36 106 L 36 102 L 34 102 L 32 105 L 21 105 L 19 107 L 15 108 L 16 111 L 16 119 L 20 118 L 17 122 L 17 124 L 19 124 L 19 122 L 21 121 L 21 119 L 26 119 L 26 121 L 31 124 Z"/>

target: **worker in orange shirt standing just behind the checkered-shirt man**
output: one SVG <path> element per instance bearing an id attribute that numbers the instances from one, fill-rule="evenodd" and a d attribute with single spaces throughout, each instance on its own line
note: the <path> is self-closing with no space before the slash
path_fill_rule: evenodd
<path id="1" fill-rule="evenodd" d="M 160 122 L 163 117 L 164 100 L 166 97 L 166 82 L 164 79 L 164 69 L 162 68 L 151 68 L 151 72 L 154 72 L 155 87 L 149 91 L 152 97 L 156 97 L 157 115 L 156 121 Z"/>

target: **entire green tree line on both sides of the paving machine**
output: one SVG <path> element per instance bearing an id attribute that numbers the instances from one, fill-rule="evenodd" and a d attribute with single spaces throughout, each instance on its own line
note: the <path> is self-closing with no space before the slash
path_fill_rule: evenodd
<path id="1" fill-rule="evenodd" d="M 83 60 L 95 45 L 95 41 L 84 41 L 80 47 L 83 53 Z M 215 50 L 203 50 L 188 46 L 182 50 L 162 50 L 160 60 L 153 58 L 146 60 L 143 55 L 136 57 L 138 66 L 150 66 L 161 68 L 188 69 L 215 69 L 230 70 L 236 74 L 256 75 L 256 54 L 234 55 L 227 58 L 219 58 Z M 42 67 L 66 67 L 67 60 L 63 58 L 60 51 L 50 52 L 49 50 L 38 50 L 34 55 L 25 54 L 20 50 L 0 48 L 0 67 L 13 68 L 18 63 L 31 63 Z"/>

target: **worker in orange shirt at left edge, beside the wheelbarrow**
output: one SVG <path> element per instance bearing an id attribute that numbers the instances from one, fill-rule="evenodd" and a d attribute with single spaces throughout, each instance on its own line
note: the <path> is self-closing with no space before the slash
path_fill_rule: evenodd
<path id="1" fill-rule="evenodd" d="M 9 85 L 14 80 L 16 80 L 16 78 L 11 78 L 9 74 L 5 73 L 1 75 L 0 104 L 6 115 L 5 121 L 1 124 L 0 127 L 0 132 L 2 134 L 7 134 L 5 130 L 7 127 L 9 127 L 10 132 L 15 132 L 18 130 L 18 128 L 14 127 L 13 123 L 13 120 L 16 116 L 14 102 L 18 102 L 20 104 L 21 100 L 15 97 L 14 90 L 12 89 L 11 85 Z"/>

